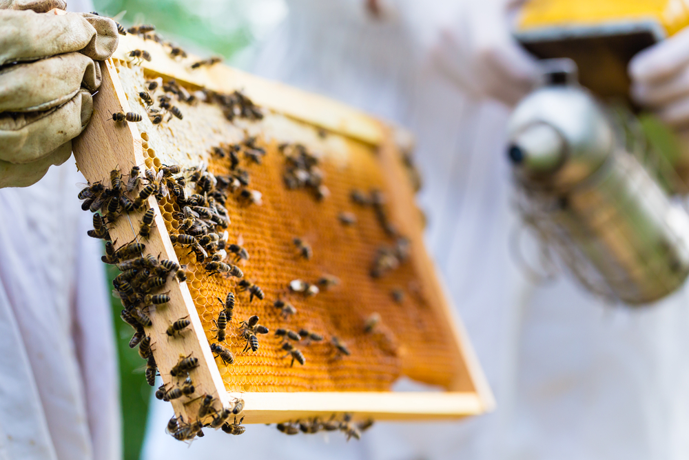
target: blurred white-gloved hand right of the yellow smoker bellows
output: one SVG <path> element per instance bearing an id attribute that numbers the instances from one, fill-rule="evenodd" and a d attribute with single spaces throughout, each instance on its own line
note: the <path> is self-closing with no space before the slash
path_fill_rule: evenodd
<path id="1" fill-rule="evenodd" d="M 633 99 L 689 133 L 689 28 L 639 52 L 628 72 Z"/>

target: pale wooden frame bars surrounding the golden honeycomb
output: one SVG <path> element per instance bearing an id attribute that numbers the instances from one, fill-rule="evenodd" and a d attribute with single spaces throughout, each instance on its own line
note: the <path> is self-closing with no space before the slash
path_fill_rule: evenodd
<path id="1" fill-rule="evenodd" d="M 358 418 L 373 417 L 378 420 L 454 419 L 491 410 L 491 391 L 466 339 L 466 332 L 455 317 L 442 283 L 435 274 L 433 262 L 425 252 L 422 221 L 416 208 L 411 205 L 413 190 L 393 142 L 391 128 L 340 103 L 265 81 L 227 66 L 216 65 L 190 71 L 189 62 L 194 61 L 193 57 L 176 61 L 170 59 L 161 46 L 127 35 L 120 37 L 119 48 L 113 58 L 101 63 L 103 83 L 99 94 L 94 97 L 94 117 L 83 134 L 74 140 L 77 166 L 90 181 L 108 177 L 113 168 L 125 170 L 125 166 L 145 162 L 142 144 L 147 141 L 147 136 L 139 132 L 137 124 L 124 123 L 118 129 L 113 129 L 113 121 L 103 116 L 114 112 L 141 112 L 139 108 L 130 108 L 115 65 L 118 60 L 130 61 L 127 53 L 134 49 L 145 49 L 152 55 L 152 61 L 141 63 L 147 72 L 218 92 L 243 90 L 258 106 L 342 137 L 356 139 L 378 150 L 380 166 L 391 194 L 391 214 L 411 240 L 411 260 L 418 271 L 419 281 L 432 297 L 433 314 L 442 319 L 450 337 L 453 337 L 456 352 L 452 362 L 447 363 L 454 378 L 446 392 L 229 393 L 225 390 L 187 284 L 171 283 L 165 288 L 171 297 L 169 305 L 164 310 L 152 312 L 153 326 L 147 330 L 154 342 L 158 343 L 154 348 L 154 357 L 163 381 L 169 383 L 169 370 L 181 354 L 186 356 L 192 353 L 200 361 L 194 374 L 198 394 L 212 394 L 222 406 L 228 406 L 230 401 L 240 397 L 245 401 L 241 414 L 245 417 L 245 423 L 279 423 L 302 417 L 329 417 L 333 413 L 343 412 L 351 412 Z M 149 199 L 149 205 L 156 210 L 156 226 L 146 242 L 147 252 L 177 261 L 165 230 L 163 215 L 154 197 Z M 136 237 L 135 222 L 140 221 L 142 215 L 143 211 L 135 212 L 130 214 L 129 222 L 125 225 L 118 223 L 114 226 L 110 230 L 113 241 L 132 241 Z M 187 333 L 185 341 L 167 340 L 165 330 L 169 323 L 187 315 L 192 321 L 192 332 Z M 193 414 L 198 412 L 199 403 L 198 399 L 184 403 L 180 399 L 172 401 L 176 414 L 181 414 L 186 420 L 195 418 Z"/>

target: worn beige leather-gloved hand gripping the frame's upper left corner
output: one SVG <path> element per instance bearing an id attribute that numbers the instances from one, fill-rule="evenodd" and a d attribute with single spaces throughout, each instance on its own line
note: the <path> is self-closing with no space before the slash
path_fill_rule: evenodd
<path id="1" fill-rule="evenodd" d="M 94 60 L 117 48 L 112 19 L 65 7 L 0 0 L 0 188 L 29 186 L 67 161 L 101 86 Z"/>

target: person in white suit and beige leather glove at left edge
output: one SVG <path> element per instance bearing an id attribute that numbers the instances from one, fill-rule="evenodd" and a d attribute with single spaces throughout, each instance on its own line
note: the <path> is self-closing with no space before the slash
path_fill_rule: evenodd
<path id="1" fill-rule="evenodd" d="M 117 460 L 101 245 L 76 198 L 85 180 L 72 162 L 50 166 L 88 123 L 96 61 L 118 35 L 110 19 L 53 8 L 65 1 L 0 0 L 0 459 Z"/>

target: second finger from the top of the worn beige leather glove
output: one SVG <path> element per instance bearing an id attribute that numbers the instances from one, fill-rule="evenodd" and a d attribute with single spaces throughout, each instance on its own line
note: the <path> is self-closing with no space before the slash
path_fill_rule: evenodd
<path id="1" fill-rule="evenodd" d="M 0 70 L 0 112 L 48 110 L 69 101 L 79 88 L 101 86 L 101 67 L 80 52 Z"/>

